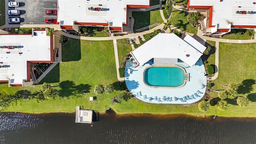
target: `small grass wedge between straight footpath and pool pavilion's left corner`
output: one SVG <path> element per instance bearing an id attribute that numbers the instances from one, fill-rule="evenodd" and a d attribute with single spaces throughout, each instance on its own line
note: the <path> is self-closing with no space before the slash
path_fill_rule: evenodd
<path id="1" fill-rule="evenodd" d="M 119 64 L 124 60 L 125 54 L 132 51 L 132 46 L 130 43 L 126 42 L 126 39 L 116 40 L 117 42 L 117 50 L 118 50 L 118 60 Z"/>

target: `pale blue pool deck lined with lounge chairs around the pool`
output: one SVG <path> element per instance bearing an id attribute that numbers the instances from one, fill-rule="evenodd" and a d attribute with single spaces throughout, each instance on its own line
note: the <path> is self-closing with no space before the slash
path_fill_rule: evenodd
<path id="1" fill-rule="evenodd" d="M 151 104 L 192 104 L 204 96 L 207 78 L 204 76 L 205 69 L 201 58 L 192 67 L 186 67 L 184 62 L 176 64 L 183 66 L 186 73 L 190 74 L 190 80 L 181 88 L 148 87 L 144 84 L 143 72 L 150 65 L 155 64 L 147 63 L 144 66 L 134 68 L 132 63 L 126 63 L 124 79 L 127 88 L 139 100 Z"/>

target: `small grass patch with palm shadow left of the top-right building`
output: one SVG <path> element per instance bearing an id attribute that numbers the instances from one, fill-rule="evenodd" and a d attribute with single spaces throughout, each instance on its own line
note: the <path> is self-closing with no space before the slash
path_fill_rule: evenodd
<path id="1" fill-rule="evenodd" d="M 172 9 L 171 24 L 176 28 L 192 34 L 197 33 L 197 29 L 194 28 L 187 19 L 187 13 L 175 8 Z"/>

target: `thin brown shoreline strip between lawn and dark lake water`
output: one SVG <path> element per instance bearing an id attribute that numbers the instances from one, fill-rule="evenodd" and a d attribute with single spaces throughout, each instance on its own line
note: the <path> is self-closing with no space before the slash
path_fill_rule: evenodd
<path id="1" fill-rule="evenodd" d="M 110 111 L 110 112 L 108 112 Z M 4 113 L 12 112 L 12 111 L 2 111 Z M 34 115 L 39 115 L 39 114 L 54 114 L 54 113 L 62 113 L 62 114 L 72 114 L 76 112 L 12 112 L 12 113 L 22 113 L 22 114 L 34 114 Z M 214 116 L 221 117 L 221 118 L 256 118 L 252 116 L 219 116 L 219 115 L 206 115 L 206 114 L 186 114 L 186 113 L 144 113 L 144 112 L 133 112 L 133 113 L 117 113 L 114 110 L 110 109 L 107 110 L 106 112 L 99 112 L 99 114 L 106 114 L 106 115 L 115 115 L 116 118 L 119 117 L 128 117 L 128 116 L 166 116 L 166 117 L 193 117 L 193 118 L 214 118 Z"/>

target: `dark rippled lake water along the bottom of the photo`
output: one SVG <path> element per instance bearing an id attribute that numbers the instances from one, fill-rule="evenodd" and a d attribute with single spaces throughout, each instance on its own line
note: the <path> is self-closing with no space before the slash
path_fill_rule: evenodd
<path id="1" fill-rule="evenodd" d="M 0 143 L 58 144 L 255 144 L 255 118 L 198 118 L 184 115 L 116 116 L 75 123 L 75 113 L 0 113 Z"/>

